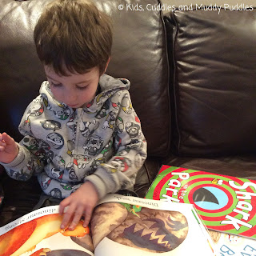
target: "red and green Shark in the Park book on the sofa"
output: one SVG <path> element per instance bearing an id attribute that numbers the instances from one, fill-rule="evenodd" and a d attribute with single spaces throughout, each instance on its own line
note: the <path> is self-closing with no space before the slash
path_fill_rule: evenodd
<path id="1" fill-rule="evenodd" d="M 256 181 L 162 166 L 146 198 L 193 204 L 210 230 L 256 239 Z"/>

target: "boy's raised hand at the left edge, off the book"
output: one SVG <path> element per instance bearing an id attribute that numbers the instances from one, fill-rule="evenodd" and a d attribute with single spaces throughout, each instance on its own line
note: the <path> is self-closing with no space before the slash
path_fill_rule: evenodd
<path id="1" fill-rule="evenodd" d="M 18 146 L 8 134 L 0 133 L 0 162 L 10 163 L 18 155 Z"/>

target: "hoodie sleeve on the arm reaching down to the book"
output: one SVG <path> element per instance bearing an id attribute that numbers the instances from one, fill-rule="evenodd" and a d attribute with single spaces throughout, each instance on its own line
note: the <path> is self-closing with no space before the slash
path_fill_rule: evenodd
<path id="1" fill-rule="evenodd" d="M 128 90 L 122 93 L 114 130 L 115 154 L 87 176 L 102 198 L 121 189 L 133 189 L 138 170 L 146 160 L 146 139 Z"/>

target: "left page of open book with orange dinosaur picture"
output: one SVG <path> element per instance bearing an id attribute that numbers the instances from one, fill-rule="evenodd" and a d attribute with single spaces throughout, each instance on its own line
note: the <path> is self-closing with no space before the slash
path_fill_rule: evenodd
<path id="1" fill-rule="evenodd" d="M 34 210 L 0 228 L 1 256 L 92 256 L 90 229 L 82 222 L 73 230 L 61 230 L 58 206 Z"/>

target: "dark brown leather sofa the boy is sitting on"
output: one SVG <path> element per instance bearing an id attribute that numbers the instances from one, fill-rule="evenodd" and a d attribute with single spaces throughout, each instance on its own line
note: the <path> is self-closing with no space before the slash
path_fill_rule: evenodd
<path id="1" fill-rule="evenodd" d="M 0 3 L 0 132 L 18 124 L 46 79 L 33 28 L 50 0 Z M 256 11 L 180 11 L 163 16 L 156 0 L 100 0 L 114 21 L 107 74 L 130 79 L 148 158 L 134 190 L 146 194 L 162 164 L 256 177 Z M 142 6 L 141 11 L 135 6 Z M 3 172 L 0 226 L 38 202 L 36 178 Z"/>

